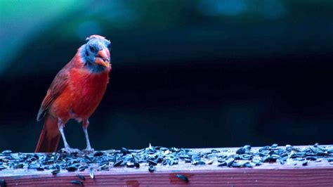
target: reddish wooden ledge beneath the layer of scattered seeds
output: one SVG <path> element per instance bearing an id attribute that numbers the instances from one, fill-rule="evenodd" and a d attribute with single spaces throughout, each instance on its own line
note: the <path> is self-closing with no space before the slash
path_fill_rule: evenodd
<path id="1" fill-rule="evenodd" d="M 297 148 L 303 148 L 298 146 Z M 235 153 L 237 148 L 214 148 L 221 152 Z M 252 148 L 253 151 L 259 148 Z M 197 152 L 209 152 L 210 148 L 192 149 Z M 332 157 L 329 155 L 328 157 Z M 211 165 L 191 165 L 179 161 L 178 165 L 158 164 L 154 172 L 148 171 L 148 165 L 140 168 L 110 167 L 108 171 L 94 172 L 94 179 L 89 176 L 89 169 L 84 172 L 67 172 L 51 174 L 51 170 L 4 169 L 0 171 L 0 180 L 6 186 L 74 186 L 81 181 L 84 186 L 333 186 L 333 165 L 327 159 L 309 161 L 303 166 L 301 162 L 265 162 L 256 167 L 218 167 L 215 160 Z M 85 180 L 77 175 L 84 176 Z M 187 177 L 181 179 L 177 174 Z"/>

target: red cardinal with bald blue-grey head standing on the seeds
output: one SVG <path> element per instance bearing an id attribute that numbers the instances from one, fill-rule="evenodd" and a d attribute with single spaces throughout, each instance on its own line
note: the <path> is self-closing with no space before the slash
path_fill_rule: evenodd
<path id="1" fill-rule="evenodd" d="M 87 127 L 89 117 L 103 98 L 109 80 L 110 41 L 98 35 L 86 39 L 74 58 L 55 76 L 41 103 L 37 121 L 45 123 L 35 152 L 55 152 L 60 134 L 67 153 L 77 151 L 68 145 L 63 128 L 70 119 L 82 122 L 86 150 L 93 150 Z"/>

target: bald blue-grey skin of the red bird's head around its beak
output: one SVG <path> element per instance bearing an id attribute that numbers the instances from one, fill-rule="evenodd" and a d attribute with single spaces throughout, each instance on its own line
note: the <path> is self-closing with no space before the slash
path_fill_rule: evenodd
<path id="1" fill-rule="evenodd" d="M 104 65 L 96 63 L 96 58 L 102 58 L 110 63 L 110 56 L 101 56 L 100 51 L 111 51 L 111 42 L 102 37 L 91 37 L 86 39 L 87 42 L 82 46 L 81 57 L 84 62 L 84 66 L 91 72 L 103 72 L 107 69 Z"/>

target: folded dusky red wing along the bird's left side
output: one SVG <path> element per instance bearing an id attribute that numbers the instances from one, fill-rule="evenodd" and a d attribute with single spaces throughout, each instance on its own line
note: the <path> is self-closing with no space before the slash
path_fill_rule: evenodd
<path id="1" fill-rule="evenodd" d="M 41 108 L 39 108 L 37 121 L 40 121 L 44 115 L 46 110 L 50 107 L 50 105 L 55 101 L 56 98 L 63 92 L 65 87 L 67 86 L 67 80 L 69 77 L 69 71 L 66 66 L 58 72 L 58 74 L 53 79 L 50 88 L 48 89 L 46 96 L 41 103 Z"/>

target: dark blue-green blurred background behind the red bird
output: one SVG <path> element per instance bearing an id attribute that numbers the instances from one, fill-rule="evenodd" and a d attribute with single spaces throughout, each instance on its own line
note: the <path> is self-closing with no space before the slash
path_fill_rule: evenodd
<path id="1" fill-rule="evenodd" d="M 0 5 L 0 150 L 34 150 L 46 90 L 91 34 L 113 65 L 93 148 L 333 142 L 333 1 Z M 85 148 L 81 124 L 65 134 Z"/>

